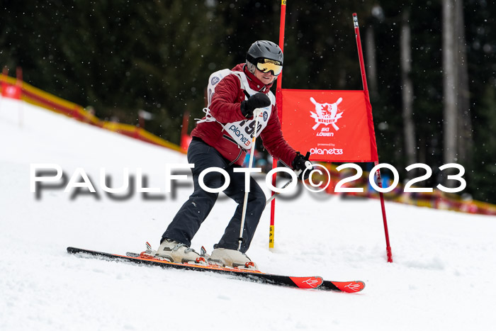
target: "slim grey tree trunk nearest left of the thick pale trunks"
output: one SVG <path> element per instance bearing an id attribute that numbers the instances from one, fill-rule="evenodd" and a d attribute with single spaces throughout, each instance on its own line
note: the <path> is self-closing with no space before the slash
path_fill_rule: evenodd
<path id="1" fill-rule="evenodd" d="M 405 154 L 407 165 L 417 162 L 417 144 L 415 140 L 415 123 L 413 121 L 413 84 L 410 78 L 412 70 L 412 46 L 410 37 L 410 9 L 402 13 L 400 57 L 403 101 L 403 128 L 405 133 Z M 414 175 L 412 172 L 408 174 Z"/>

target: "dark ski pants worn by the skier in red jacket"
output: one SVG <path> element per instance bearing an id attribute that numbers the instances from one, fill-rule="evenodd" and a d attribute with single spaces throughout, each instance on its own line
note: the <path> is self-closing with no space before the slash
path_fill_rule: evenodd
<path id="1" fill-rule="evenodd" d="M 200 187 L 198 177 L 205 169 L 219 167 L 224 169 L 230 176 L 230 185 L 225 189 L 224 193 L 236 201 L 238 206 L 229 224 L 227 224 L 227 228 L 225 228 L 224 235 L 222 235 L 218 244 L 214 245 L 214 248 L 237 249 L 244 201 L 244 176 L 246 174 L 233 172 L 233 169 L 239 166 L 230 165 L 230 162 L 222 157 L 215 148 L 205 144 L 202 140 L 198 140 L 198 138 L 192 140 L 189 145 L 188 163 L 195 165 L 191 169 L 193 173 L 193 194 L 176 213 L 164 235 L 162 235 L 162 240 L 167 238 L 191 246 L 191 240 L 218 198 L 218 193 L 210 193 Z M 203 178 L 203 182 L 209 188 L 217 189 L 225 183 L 225 179 L 219 172 L 210 172 Z M 257 230 L 261 213 L 266 205 L 264 191 L 253 178 L 250 178 L 249 190 L 241 252 L 248 250 L 255 230 Z"/>

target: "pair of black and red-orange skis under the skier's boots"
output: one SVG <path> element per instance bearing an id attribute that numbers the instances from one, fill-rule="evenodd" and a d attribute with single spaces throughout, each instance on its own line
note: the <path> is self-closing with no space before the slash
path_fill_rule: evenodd
<path id="1" fill-rule="evenodd" d="M 261 271 L 254 270 L 239 270 L 234 268 L 225 268 L 217 266 L 201 266 L 195 264 L 182 264 L 168 262 L 150 257 L 142 257 L 140 254 L 128 253 L 127 255 L 111 254 L 105 252 L 97 252 L 89 249 L 81 249 L 76 247 L 67 247 L 67 252 L 77 254 L 81 257 L 95 257 L 108 261 L 130 262 L 134 264 L 142 264 L 147 266 L 172 268 L 192 271 L 209 271 L 217 274 L 232 276 L 235 279 L 244 279 L 255 281 L 261 284 L 272 284 L 277 286 L 288 286 L 293 288 L 317 289 L 324 291 L 339 291 L 346 293 L 356 293 L 363 290 L 365 284 L 363 281 L 325 281 L 320 276 L 282 276 L 276 274 L 265 274 Z"/>

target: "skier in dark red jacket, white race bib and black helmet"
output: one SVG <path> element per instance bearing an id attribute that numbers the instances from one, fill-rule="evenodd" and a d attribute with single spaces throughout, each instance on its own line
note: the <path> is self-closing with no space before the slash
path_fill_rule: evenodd
<path id="1" fill-rule="evenodd" d="M 162 235 L 157 256 L 179 263 L 207 264 L 190 245 L 191 239 L 213 208 L 218 193 L 201 189 L 198 177 L 205 169 L 219 167 L 230 176 L 230 185 L 223 192 L 238 206 L 224 235 L 214 245 L 208 262 L 222 267 L 257 269 L 257 265 L 245 252 L 266 206 L 266 196 L 252 178 L 249 182 L 243 235 L 239 238 L 245 174 L 234 172 L 234 169 L 241 167 L 246 150 L 249 150 L 247 145 L 251 139 L 247 138 L 252 138 L 249 135 L 253 134 L 254 125 L 258 124 L 257 133 L 273 157 L 288 167 L 291 165 L 294 170 L 302 171 L 308 161 L 308 155 L 304 157 L 296 152 L 282 135 L 274 94 L 270 91 L 282 69 L 281 48 L 270 41 L 259 40 L 249 47 L 246 63 L 237 64 L 231 71 L 225 69 L 225 77 L 219 78 L 215 73 L 210 76 L 210 85 L 216 84 L 215 90 L 209 96 L 211 102 L 205 108 L 206 116 L 198 121 L 191 132 L 192 141 L 188 147 L 188 162 L 194 164 L 194 191 Z M 254 110 L 257 108 L 262 108 L 263 113 L 255 121 Z M 224 184 L 224 179 L 222 174 L 210 172 L 203 182 L 209 188 L 218 188 Z M 239 240 L 242 240 L 240 247 Z"/>

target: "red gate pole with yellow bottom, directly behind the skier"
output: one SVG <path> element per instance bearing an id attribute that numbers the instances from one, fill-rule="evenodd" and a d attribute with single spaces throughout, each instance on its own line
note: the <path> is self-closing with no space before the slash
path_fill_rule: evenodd
<path id="1" fill-rule="evenodd" d="M 279 47 L 284 52 L 284 27 L 286 26 L 286 0 L 281 0 L 281 23 L 279 24 Z M 277 87 L 276 87 L 276 104 L 277 104 L 277 115 L 279 120 L 283 121 L 283 73 L 279 74 L 277 77 Z M 277 167 L 277 159 L 272 160 L 272 169 Z M 272 185 L 276 187 L 276 173 L 272 175 Z M 272 196 L 276 192 L 272 191 Z M 271 225 L 269 227 L 269 249 L 274 248 L 274 218 L 276 215 L 276 199 L 271 201 Z"/>

